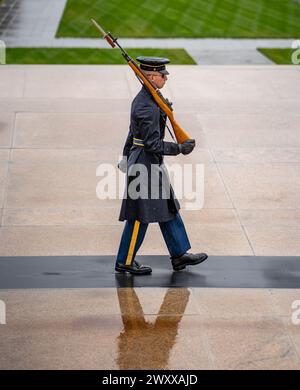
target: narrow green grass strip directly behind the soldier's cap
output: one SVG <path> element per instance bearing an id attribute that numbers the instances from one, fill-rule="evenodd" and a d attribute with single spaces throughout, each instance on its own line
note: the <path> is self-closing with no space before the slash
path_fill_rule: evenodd
<path id="1" fill-rule="evenodd" d="M 172 64 L 195 64 L 184 49 L 128 49 L 139 56 L 167 57 Z M 7 64 L 126 64 L 119 49 L 7 48 Z"/>

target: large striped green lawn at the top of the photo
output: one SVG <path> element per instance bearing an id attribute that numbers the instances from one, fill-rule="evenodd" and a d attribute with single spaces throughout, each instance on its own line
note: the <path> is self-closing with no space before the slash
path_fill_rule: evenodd
<path id="1" fill-rule="evenodd" d="M 296 0 L 68 0 L 58 37 L 300 37 Z"/>

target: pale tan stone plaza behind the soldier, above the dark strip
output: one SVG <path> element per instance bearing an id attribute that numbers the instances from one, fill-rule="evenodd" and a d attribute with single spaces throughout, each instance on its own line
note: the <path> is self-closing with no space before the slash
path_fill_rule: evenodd
<path id="1" fill-rule="evenodd" d="M 167 163 L 205 169 L 204 208 L 182 210 L 193 250 L 298 256 L 299 67 L 169 70 L 163 93 L 197 148 Z M 126 65 L 0 67 L 0 256 L 115 253 L 120 200 L 96 197 L 96 169 L 117 164 L 139 89 Z M 141 254 L 167 254 L 149 235 Z"/>

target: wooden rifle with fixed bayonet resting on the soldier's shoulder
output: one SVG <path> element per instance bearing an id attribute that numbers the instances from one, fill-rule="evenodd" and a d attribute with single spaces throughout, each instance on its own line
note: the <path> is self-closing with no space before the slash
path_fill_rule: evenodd
<path id="1" fill-rule="evenodd" d="M 126 53 L 126 51 L 119 45 L 118 38 L 113 37 L 113 35 L 110 32 L 105 32 L 103 28 L 94 20 L 91 19 L 92 23 L 96 26 L 96 28 L 101 32 L 103 35 L 103 38 L 106 39 L 106 41 L 110 44 L 112 48 L 115 46 L 118 46 L 118 48 L 121 50 L 123 57 L 128 62 L 128 65 L 131 67 L 131 69 L 136 74 L 138 80 L 141 82 L 141 84 L 145 85 L 148 90 L 150 91 L 151 95 L 153 96 L 156 103 L 159 105 L 159 107 L 162 109 L 162 111 L 167 115 L 169 118 L 171 125 L 173 127 L 173 131 L 176 137 L 176 140 L 179 144 L 182 144 L 184 141 L 191 139 L 191 137 L 183 130 L 182 127 L 175 121 L 174 115 L 173 115 L 173 108 L 171 106 L 171 103 L 168 101 L 168 99 L 164 98 L 161 92 L 158 90 L 158 88 L 154 85 L 154 83 L 148 79 L 146 74 L 138 64 Z M 170 131 L 170 129 L 168 128 Z M 172 135 L 172 133 L 170 132 Z M 173 137 L 173 136 L 172 136 Z"/>

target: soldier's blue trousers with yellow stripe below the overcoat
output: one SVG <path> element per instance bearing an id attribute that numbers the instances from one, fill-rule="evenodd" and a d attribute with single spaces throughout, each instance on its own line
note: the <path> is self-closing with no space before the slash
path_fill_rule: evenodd
<path id="1" fill-rule="evenodd" d="M 179 215 L 168 222 L 159 222 L 160 230 L 168 247 L 171 257 L 178 257 L 191 248 L 183 221 Z M 148 223 L 126 221 L 122 234 L 117 262 L 131 265 L 144 240 Z"/>

